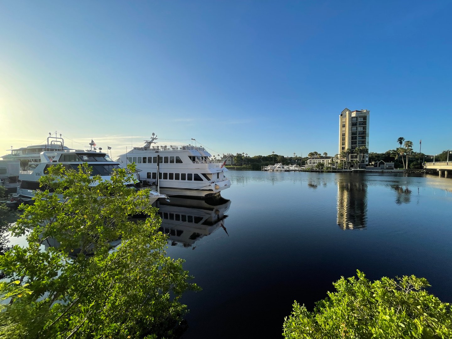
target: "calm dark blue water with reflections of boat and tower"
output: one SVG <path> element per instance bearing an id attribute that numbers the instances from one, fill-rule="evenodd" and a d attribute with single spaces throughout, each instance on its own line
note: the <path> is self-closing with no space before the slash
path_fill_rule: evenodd
<path id="1" fill-rule="evenodd" d="M 425 277 L 452 302 L 452 179 L 228 174 L 230 202 L 161 207 L 168 254 L 203 288 L 183 297 L 184 339 L 281 338 L 294 300 L 311 309 L 356 269 L 372 280 Z"/>

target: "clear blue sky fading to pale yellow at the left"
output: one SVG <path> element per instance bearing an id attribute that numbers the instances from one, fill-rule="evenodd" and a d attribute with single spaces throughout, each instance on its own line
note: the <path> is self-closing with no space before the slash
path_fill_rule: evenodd
<path id="1" fill-rule="evenodd" d="M 212 154 L 334 155 L 347 107 L 370 110 L 370 151 L 405 137 L 436 154 L 452 149 L 451 10 L 0 0 L 0 150 L 58 131 L 118 155 L 155 132 Z"/>

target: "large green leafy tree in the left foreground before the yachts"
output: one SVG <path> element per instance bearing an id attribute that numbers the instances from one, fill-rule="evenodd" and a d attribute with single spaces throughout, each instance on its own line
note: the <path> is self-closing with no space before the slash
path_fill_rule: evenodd
<path id="1" fill-rule="evenodd" d="M 188 283 L 182 260 L 165 256 L 166 236 L 148 192 L 127 188 L 126 170 L 92 187 L 96 180 L 87 166 L 51 168 L 41 185 L 55 194 L 45 190 L 33 206 L 21 207 L 24 215 L 11 231 L 26 235 L 28 246 L 0 257 L 7 277 L 0 283 L 0 337 L 175 335 L 186 310 L 178 299 L 198 287 Z M 137 212 L 149 217 L 127 219 Z"/>

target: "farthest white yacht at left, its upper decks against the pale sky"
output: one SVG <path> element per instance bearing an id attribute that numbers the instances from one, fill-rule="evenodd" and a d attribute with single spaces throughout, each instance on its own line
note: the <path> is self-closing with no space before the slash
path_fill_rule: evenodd
<path id="1" fill-rule="evenodd" d="M 41 153 L 46 151 L 69 151 L 70 148 L 64 146 L 64 139 L 61 137 L 52 137 L 52 133 L 49 132 L 47 142 L 42 145 L 30 145 L 27 147 L 11 149 L 10 154 L 0 156 L 3 160 L 22 160 L 26 159 L 31 163 L 41 162 Z"/>

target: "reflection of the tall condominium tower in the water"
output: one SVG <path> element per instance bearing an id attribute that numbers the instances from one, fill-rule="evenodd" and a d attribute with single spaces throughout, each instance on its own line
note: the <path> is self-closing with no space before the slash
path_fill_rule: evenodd
<path id="1" fill-rule="evenodd" d="M 343 230 L 366 227 L 367 183 L 362 175 L 348 175 L 337 182 L 337 224 Z"/>

